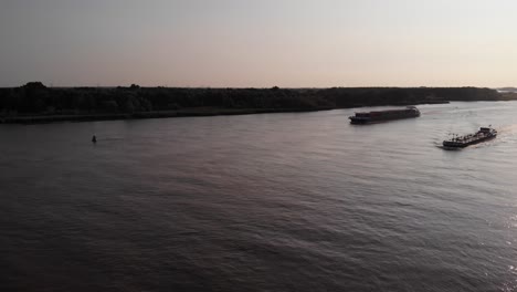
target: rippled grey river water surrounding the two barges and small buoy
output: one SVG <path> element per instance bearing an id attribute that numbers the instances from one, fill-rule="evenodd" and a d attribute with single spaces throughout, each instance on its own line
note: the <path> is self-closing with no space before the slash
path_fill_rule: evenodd
<path id="1" fill-rule="evenodd" d="M 0 290 L 517 291 L 517 103 L 420 108 L 0 126 Z"/>

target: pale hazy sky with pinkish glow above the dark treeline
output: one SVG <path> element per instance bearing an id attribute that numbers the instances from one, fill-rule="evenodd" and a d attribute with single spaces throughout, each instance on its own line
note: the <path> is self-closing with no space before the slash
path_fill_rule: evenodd
<path id="1" fill-rule="evenodd" d="M 0 86 L 517 85 L 515 0 L 0 0 Z"/>

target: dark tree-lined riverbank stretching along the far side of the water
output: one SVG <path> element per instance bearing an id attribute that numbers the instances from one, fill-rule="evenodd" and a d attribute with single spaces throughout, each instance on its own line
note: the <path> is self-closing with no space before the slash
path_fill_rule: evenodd
<path id="1" fill-rule="evenodd" d="M 179 88 L 134 84 L 56 88 L 30 82 L 0 88 L 0 123 L 245 115 L 514 98 L 476 87 Z"/>

